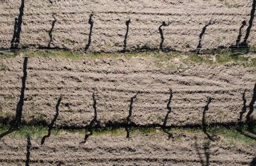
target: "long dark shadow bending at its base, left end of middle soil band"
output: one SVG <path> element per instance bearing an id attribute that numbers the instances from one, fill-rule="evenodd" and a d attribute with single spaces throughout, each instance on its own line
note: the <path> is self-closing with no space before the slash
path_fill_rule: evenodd
<path id="1" fill-rule="evenodd" d="M 18 130 L 20 128 L 20 123 L 21 123 L 21 117 L 22 117 L 22 110 L 23 110 L 23 105 L 24 105 L 24 94 L 25 94 L 25 89 L 26 89 L 26 79 L 27 79 L 27 66 L 28 66 L 28 57 L 24 57 L 24 62 L 23 62 L 23 77 L 22 77 L 22 87 L 20 91 L 20 99 L 19 103 L 17 104 L 16 107 L 16 116 L 15 119 L 11 122 L 10 128 L 7 132 L 1 133 L 0 134 L 0 140 L 5 136 L 8 135 L 15 130 Z"/>

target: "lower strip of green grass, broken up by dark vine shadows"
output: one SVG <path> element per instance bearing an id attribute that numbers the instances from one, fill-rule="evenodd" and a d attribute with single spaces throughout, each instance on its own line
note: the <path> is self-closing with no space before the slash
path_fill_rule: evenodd
<path id="1" fill-rule="evenodd" d="M 10 128 L 8 125 L 0 124 L 0 133 L 4 133 Z M 243 132 L 248 132 L 247 127 L 243 126 L 241 128 Z M 131 128 L 131 135 L 136 134 L 163 134 L 163 130 L 161 128 L 153 128 L 153 127 L 136 127 Z M 201 127 L 196 128 L 180 128 L 180 127 L 174 127 L 170 128 L 168 130 L 172 133 L 185 133 L 188 135 L 204 135 L 204 132 Z M 78 135 L 84 135 L 85 130 L 79 129 L 79 130 L 63 130 L 63 129 L 52 129 L 51 135 L 61 135 L 63 133 L 70 133 L 70 134 L 78 134 Z M 218 135 L 222 138 L 225 138 L 226 142 L 241 142 L 244 144 L 249 145 L 256 145 L 256 140 L 251 139 L 250 137 L 246 137 L 243 135 L 239 130 L 237 130 L 237 126 L 209 126 L 207 128 L 207 132 L 209 132 L 212 135 Z M 253 123 L 253 132 L 256 133 L 256 123 Z M 44 135 L 47 135 L 48 128 L 43 126 L 22 126 L 19 130 L 10 133 L 8 137 L 10 138 L 26 138 L 27 135 L 30 135 L 30 137 L 43 137 Z M 251 135 L 256 136 L 253 133 L 250 133 Z M 101 137 L 102 135 L 109 135 L 111 137 L 116 135 L 126 135 L 125 128 L 95 128 L 93 129 L 93 135 L 95 137 Z M 82 136 L 83 137 L 83 136 Z M 223 139 L 222 139 L 223 140 Z"/>

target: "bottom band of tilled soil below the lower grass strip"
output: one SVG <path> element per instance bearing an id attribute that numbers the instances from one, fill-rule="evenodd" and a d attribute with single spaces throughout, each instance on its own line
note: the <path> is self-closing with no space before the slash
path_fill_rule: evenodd
<path id="1" fill-rule="evenodd" d="M 98 135 L 81 144 L 83 135 L 40 138 L 4 137 L 0 142 L 1 165 L 253 165 L 255 145 L 211 142 L 202 134 L 179 133 L 168 140 L 163 132 Z M 254 161 L 254 162 L 253 162 Z"/>

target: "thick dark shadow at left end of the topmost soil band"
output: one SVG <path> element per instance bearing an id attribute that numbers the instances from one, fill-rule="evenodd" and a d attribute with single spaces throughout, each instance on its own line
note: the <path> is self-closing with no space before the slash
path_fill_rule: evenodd
<path id="1" fill-rule="evenodd" d="M 19 8 L 20 13 L 19 13 L 18 19 L 17 18 L 15 19 L 13 38 L 11 41 L 10 49 L 18 49 L 19 48 L 22 17 L 24 15 L 24 7 L 25 7 L 25 2 L 24 2 L 24 0 L 21 0 L 21 4 L 20 4 L 20 8 Z"/>

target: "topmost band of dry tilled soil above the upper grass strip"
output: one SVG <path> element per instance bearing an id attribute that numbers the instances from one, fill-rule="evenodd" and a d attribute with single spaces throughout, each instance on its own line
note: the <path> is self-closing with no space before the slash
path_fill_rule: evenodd
<path id="1" fill-rule="evenodd" d="M 1 0 L 0 48 L 255 47 L 255 0 Z"/>

